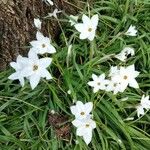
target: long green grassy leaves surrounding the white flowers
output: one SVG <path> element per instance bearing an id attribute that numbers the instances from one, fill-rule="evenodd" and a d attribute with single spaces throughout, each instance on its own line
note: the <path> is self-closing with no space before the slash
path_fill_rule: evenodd
<path id="1" fill-rule="evenodd" d="M 143 94 L 150 94 L 150 2 L 149 0 L 97 0 L 90 6 L 91 14 L 99 14 L 95 41 L 79 40 L 78 33 L 68 23 L 62 24 L 63 34 L 53 64 L 49 69 L 52 81 L 41 81 L 33 91 L 26 83 L 21 88 L 18 82 L 8 80 L 13 70 L 0 73 L 0 149 L 1 150 L 149 150 L 149 112 L 137 118 L 136 106 Z M 88 14 L 87 4 L 81 13 Z M 67 20 L 66 20 L 67 21 Z M 138 29 L 137 37 L 122 33 L 133 24 Z M 65 38 L 64 38 L 65 36 Z M 73 44 L 71 55 L 67 46 Z M 112 54 L 126 45 L 135 48 L 135 57 L 120 63 Z M 90 58 L 91 50 L 94 52 Z M 67 59 L 66 59 L 67 58 Z M 68 66 L 67 66 L 68 64 Z M 113 95 L 100 91 L 93 94 L 87 86 L 91 74 L 100 75 L 111 65 L 135 64 L 140 72 L 140 89 L 128 88 L 124 93 Z M 71 90 L 68 95 L 67 91 Z M 123 98 L 128 97 L 126 101 Z M 76 137 L 71 128 L 69 141 L 58 139 L 48 124 L 48 112 L 55 110 L 73 119 L 69 107 L 73 101 L 92 101 L 93 116 L 97 128 L 89 146 Z M 134 117 L 134 120 L 128 120 Z M 78 140 L 78 144 L 75 141 Z"/>

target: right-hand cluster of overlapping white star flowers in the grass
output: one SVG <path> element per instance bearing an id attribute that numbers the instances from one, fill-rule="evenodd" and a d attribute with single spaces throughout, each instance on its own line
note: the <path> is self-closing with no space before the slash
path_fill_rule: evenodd
<path id="1" fill-rule="evenodd" d="M 96 93 L 99 90 L 112 91 L 114 94 L 118 92 L 124 92 L 127 86 L 133 88 L 139 88 L 135 78 L 139 75 L 138 71 L 135 71 L 134 65 L 128 67 L 111 67 L 109 77 L 105 79 L 105 74 L 99 77 L 95 74 L 92 75 L 93 81 L 89 81 L 88 85 L 93 87 L 93 92 Z"/>

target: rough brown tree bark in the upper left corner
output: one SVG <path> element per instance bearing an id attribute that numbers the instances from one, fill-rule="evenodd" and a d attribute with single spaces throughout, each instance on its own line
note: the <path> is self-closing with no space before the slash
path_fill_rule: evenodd
<path id="1" fill-rule="evenodd" d="M 63 0 L 54 0 L 54 3 L 52 7 L 42 0 L 0 0 L 0 70 L 5 69 L 18 54 L 27 53 L 25 46 L 35 39 L 34 18 L 46 16 L 56 6 L 71 14 L 75 13 L 75 9 Z M 60 30 L 57 22 L 51 22 L 50 26 L 53 37 L 58 36 Z M 47 32 L 45 22 L 42 32 Z"/>

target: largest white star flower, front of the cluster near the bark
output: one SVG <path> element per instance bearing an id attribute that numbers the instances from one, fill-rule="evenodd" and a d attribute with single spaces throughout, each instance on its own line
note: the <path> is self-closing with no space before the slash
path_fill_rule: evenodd
<path id="1" fill-rule="evenodd" d="M 46 69 L 51 64 L 52 59 L 46 57 L 39 59 L 33 51 L 29 51 L 28 57 L 26 60 L 27 65 L 24 66 L 20 75 L 27 77 L 30 80 L 31 88 L 34 89 L 41 78 L 52 79 L 51 74 Z"/>

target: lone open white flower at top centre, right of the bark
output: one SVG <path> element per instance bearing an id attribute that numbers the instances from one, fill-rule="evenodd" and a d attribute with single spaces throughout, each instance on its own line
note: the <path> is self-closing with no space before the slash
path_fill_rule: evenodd
<path id="1" fill-rule="evenodd" d="M 98 15 L 94 15 L 91 19 L 86 15 L 82 16 L 83 23 L 75 25 L 76 30 L 80 32 L 80 39 L 89 39 L 92 41 L 98 25 Z"/>

